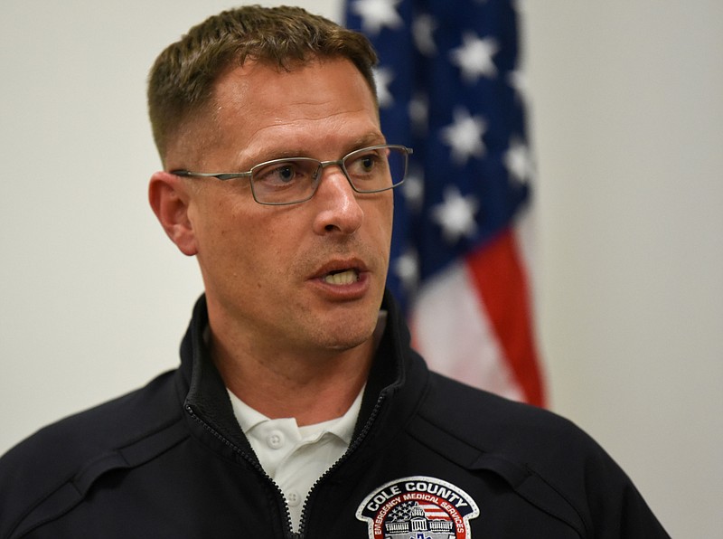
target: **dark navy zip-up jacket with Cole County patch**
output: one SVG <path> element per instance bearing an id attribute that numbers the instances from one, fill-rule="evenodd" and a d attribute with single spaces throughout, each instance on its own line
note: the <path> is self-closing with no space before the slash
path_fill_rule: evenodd
<path id="1" fill-rule="evenodd" d="M 384 303 L 352 445 L 309 494 L 300 534 L 208 356 L 202 298 L 177 370 L 0 459 L 0 539 L 668 537 L 595 441 L 430 373 Z"/>

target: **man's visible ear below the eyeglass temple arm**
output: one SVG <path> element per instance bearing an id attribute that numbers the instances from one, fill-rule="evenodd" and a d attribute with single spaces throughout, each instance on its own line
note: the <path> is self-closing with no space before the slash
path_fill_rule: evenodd
<path id="1" fill-rule="evenodd" d="M 198 249 L 189 218 L 191 195 L 183 179 L 168 172 L 156 172 L 148 184 L 148 200 L 176 247 L 187 256 L 195 255 Z"/>

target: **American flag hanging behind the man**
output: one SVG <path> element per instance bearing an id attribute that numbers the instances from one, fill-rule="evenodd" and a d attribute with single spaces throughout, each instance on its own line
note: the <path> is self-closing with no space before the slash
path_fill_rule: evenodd
<path id="1" fill-rule="evenodd" d="M 511 0 L 348 0 L 380 56 L 388 141 L 414 148 L 395 191 L 389 287 L 437 371 L 544 404 L 516 231 L 534 175 Z"/>

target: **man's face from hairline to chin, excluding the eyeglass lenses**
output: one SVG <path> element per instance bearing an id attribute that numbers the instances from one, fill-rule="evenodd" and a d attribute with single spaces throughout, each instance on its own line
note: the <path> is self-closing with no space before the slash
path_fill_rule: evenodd
<path id="1" fill-rule="evenodd" d="M 289 72 L 247 63 L 218 80 L 215 110 L 217 144 L 196 162 L 172 156 L 172 169 L 241 172 L 278 157 L 335 160 L 385 142 L 371 90 L 350 61 Z M 249 178 L 185 180 L 202 182 L 188 190 L 188 218 L 214 331 L 240 328 L 258 352 L 320 354 L 371 337 L 392 193 L 355 194 L 336 166 L 323 174 L 311 200 L 288 206 L 256 203 Z"/>

